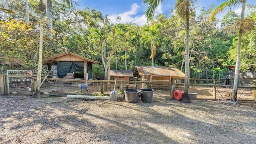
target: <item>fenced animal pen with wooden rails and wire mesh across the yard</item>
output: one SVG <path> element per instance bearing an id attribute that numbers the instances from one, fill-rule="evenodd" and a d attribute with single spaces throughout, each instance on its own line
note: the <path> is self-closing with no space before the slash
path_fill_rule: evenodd
<path id="1" fill-rule="evenodd" d="M 152 81 L 116 81 L 116 90 L 120 92 L 125 89 L 140 90 L 142 88 L 154 89 L 154 97 L 171 96 L 174 90 L 184 91 L 182 80 L 174 79 L 173 82 L 165 80 L 166 86 L 158 87 L 162 80 Z M 77 80 L 77 79 L 61 79 L 61 78 L 42 78 L 41 92 L 49 92 L 50 96 L 67 96 L 72 95 L 104 95 L 110 96 L 114 90 L 114 80 Z M 194 81 L 192 81 L 194 82 Z M 1 95 L 31 95 L 27 87 L 35 91 L 36 77 L 32 77 L 28 73 L 24 74 L 8 74 L 0 75 L 0 94 Z M 163 83 L 163 82 L 162 82 Z M 87 84 L 88 91 L 82 90 L 78 84 Z M 226 88 L 227 87 L 227 88 Z M 226 89 L 226 90 L 225 90 Z M 255 100 L 253 94 L 255 87 L 238 86 L 238 96 L 242 90 L 244 92 L 240 100 Z M 225 92 L 224 92 L 225 90 Z M 230 99 L 232 94 L 232 86 L 216 85 L 216 84 L 189 84 L 188 92 L 196 93 L 197 95 L 190 96 L 191 99 L 218 100 L 222 95 L 226 99 Z"/>

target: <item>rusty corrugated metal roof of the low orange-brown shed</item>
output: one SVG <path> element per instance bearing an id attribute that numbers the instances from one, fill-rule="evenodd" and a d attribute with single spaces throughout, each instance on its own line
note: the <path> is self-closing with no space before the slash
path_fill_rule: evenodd
<path id="1" fill-rule="evenodd" d="M 169 75 L 172 78 L 185 78 L 185 74 L 178 68 L 162 66 L 135 66 L 134 75 Z"/>

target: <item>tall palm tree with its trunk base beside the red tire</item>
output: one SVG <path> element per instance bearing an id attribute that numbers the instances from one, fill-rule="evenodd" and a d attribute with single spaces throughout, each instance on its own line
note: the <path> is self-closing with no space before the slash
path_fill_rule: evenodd
<path id="1" fill-rule="evenodd" d="M 145 12 L 146 17 L 151 19 L 156 11 L 158 5 L 160 5 L 163 0 L 144 0 L 144 3 L 148 4 L 147 10 Z M 177 18 L 182 20 L 186 16 L 186 54 L 185 54 L 185 81 L 184 81 L 184 95 L 182 96 L 182 102 L 191 103 L 188 96 L 188 80 L 189 80 L 189 8 L 190 0 L 177 0 L 175 7 L 177 8 L 176 14 Z"/>

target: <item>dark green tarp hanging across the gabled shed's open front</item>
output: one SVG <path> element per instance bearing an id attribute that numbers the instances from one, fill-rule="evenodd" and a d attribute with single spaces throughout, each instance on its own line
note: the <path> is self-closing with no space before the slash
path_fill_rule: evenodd
<path id="1" fill-rule="evenodd" d="M 58 78 L 64 78 L 68 73 L 84 68 L 84 62 L 57 62 Z"/>

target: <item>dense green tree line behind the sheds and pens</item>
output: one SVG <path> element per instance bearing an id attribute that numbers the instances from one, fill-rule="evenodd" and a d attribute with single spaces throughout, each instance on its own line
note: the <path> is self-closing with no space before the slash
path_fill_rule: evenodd
<path id="1" fill-rule="evenodd" d="M 38 66 L 40 10 L 37 0 L 0 0 L 0 63 L 4 69 L 36 69 Z M 44 4 L 46 6 L 46 4 Z M 236 63 L 239 16 L 229 11 L 223 20 L 209 21 L 212 8 L 202 8 L 200 15 L 191 8 L 189 32 L 190 76 L 204 70 L 221 73 L 224 65 Z M 255 62 L 255 6 L 247 6 L 248 25 L 242 36 L 241 70 Z M 7 14 L 4 20 L 4 14 Z M 164 14 L 148 20 L 144 26 L 112 23 L 105 14 L 85 8 L 77 10 L 52 0 L 52 29 L 43 15 L 43 58 L 68 51 L 96 60 L 108 70 L 132 69 L 134 66 L 172 66 L 185 70 L 186 22 L 177 15 Z M 121 18 L 118 17 L 117 20 Z M 253 23 L 253 24 L 252 24 Z M 49 33 L 52 32 L 52 38 Z M 106 51 L 104 51 L 106 48 Z M 16 66 L 16 67 L 15 67 Z M 96 74 L 97 75 L 97 74 Z"/>

